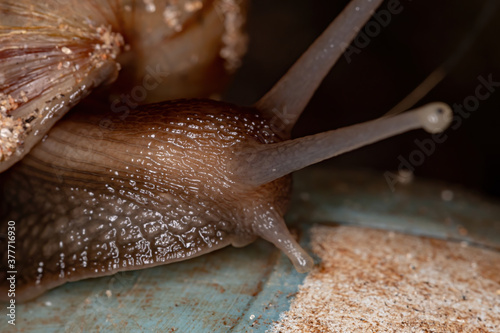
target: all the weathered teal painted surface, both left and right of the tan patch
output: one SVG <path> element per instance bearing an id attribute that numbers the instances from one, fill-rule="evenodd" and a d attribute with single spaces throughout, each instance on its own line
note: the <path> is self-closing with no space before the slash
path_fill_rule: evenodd
<path id="1" fill-rule="evenodd" d="M 451 190 L 453 199 L 442 199 Z M 463 189 L 417 181 L 392 192 L 382 173 L 308 168 L 295 177 L 292 228 L 337 223 L 466 240 L 500 248 L 500 205 Z M 466 231 L 466 233 L 464 232 Z M 1 332 L 265 332 L 305 274 L 257 241 L 185 262 L 69 283 L 16 309 Z M 5 309 L 6 304 L 2 304 Z M 4 311 L 5 313 L 5 311 Z"/>

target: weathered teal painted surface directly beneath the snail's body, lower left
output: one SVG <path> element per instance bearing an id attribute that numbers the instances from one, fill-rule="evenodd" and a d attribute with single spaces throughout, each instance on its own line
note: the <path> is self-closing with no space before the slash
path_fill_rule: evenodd
<path id="1" fill-rule="evenodd" d="M 288 308 L 304 276 L 272 245 L 258 241 L 176 264 L 68 283 L 18 305 L 16 328 L 27 332 L 265 331 Z M 14 330 L 2 320 L 0 331 Z"/>

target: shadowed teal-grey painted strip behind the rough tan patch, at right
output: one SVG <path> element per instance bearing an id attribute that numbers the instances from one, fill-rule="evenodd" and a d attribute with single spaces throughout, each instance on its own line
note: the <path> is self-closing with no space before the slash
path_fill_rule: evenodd
<path id="1" fill-rule="evenodd" d="M 500 248 L 500 203 L 445 183 L 415 180 L 394 191 L 382 172 L 313 166 L 297 173 L 291 223 L 341 223 Z M 443 191 L 452 199 L 443 199 Z"/>

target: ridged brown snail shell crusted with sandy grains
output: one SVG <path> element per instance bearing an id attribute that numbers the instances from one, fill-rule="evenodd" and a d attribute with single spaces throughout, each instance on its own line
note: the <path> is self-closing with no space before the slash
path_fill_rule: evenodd
<path id="1" fill-rule="evenodd" d="M 220 93 L 245 52 L 245 0 L 0 2 L 0 172 L 94 88 L 116 112 Z"/>

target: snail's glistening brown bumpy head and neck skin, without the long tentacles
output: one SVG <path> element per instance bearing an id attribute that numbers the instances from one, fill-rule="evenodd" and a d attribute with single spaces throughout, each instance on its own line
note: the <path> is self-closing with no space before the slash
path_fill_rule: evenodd
<path id="1" fill-rule="evenodd" d="M 242 142 L 281 140 L 253 109 L 181 100 L 96 126 L 105 117 L 73 113 L 3 177 L 9 219 L 22 221 L 18 299 L 257 236 L 289 236 L 280 216 L 290 178 L 252 187 L 227 169 Z"/>

